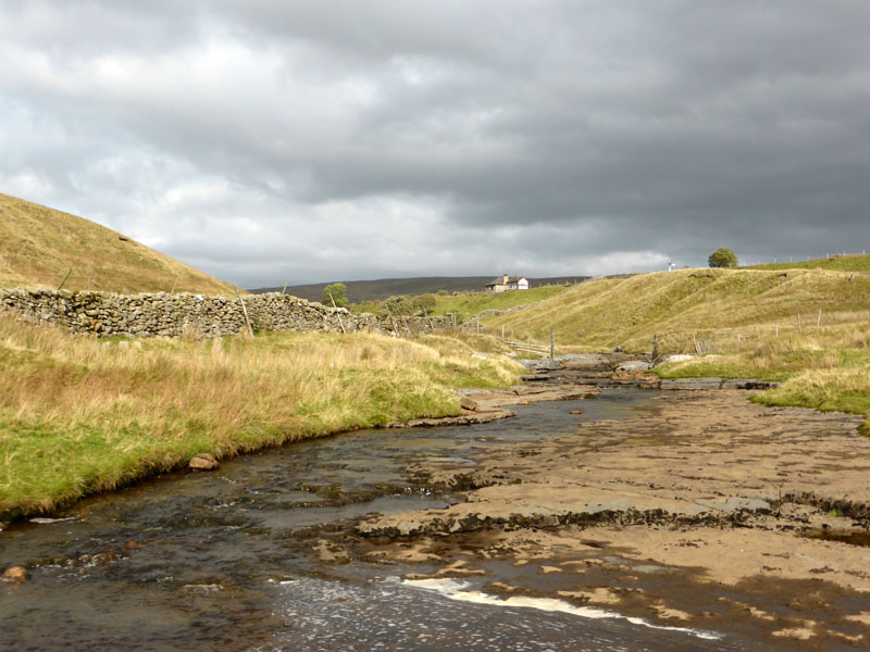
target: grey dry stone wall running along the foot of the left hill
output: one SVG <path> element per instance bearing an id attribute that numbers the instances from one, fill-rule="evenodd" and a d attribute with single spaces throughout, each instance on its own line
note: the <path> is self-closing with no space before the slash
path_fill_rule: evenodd
<path id="1" fill-rule="evenodd" d="M 364 330 L 414 336 L 451 328 L 445 317 L 380 317 L 355 315 L 279 293 L 244 298 L 257 330 L 347 331 Z M 54 324 L 74 334 L 98 337 L 194 337 L 235 335 L 247 328 L 238 298 L 201 294 L 114 294 L 66 290 L 0 290 L 0 310 L 42 324 Z"/>

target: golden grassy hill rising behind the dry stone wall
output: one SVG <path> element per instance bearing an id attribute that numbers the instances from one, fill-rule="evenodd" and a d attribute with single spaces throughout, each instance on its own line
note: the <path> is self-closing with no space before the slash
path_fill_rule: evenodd
<path id="1" fill-rule="evenodd" d="M 0 195 L 0 287 L 235 294 L 235 287 L 112 229 Z"/>

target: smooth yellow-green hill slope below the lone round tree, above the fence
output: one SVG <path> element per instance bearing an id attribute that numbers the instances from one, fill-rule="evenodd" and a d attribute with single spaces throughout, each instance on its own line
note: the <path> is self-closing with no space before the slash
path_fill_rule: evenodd
<path id="1" fill-rule="evenodd" d="M 523 311 L 486 317 L 489 331 L 586 348 L 649 351 L 654 335 L 687 351 L 693 337 L 742 339 L 867 319 L 870 275 L 828 269 L 681 269 L 581 284 Z"/>

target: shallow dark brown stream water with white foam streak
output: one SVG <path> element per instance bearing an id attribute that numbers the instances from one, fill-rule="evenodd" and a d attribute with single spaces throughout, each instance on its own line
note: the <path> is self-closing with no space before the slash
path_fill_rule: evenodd
<path id="1" fill-rule="evenodd" d="M 0 582 L 0 649 L 757 649 L 729 632 L 656 628 L 566 603 L 486 600 L 485 582 L 475 578 L 402 581 L 420 565 L 323 562 L 312 553 L 365 514 L 459 500 L 410 482 L 410 463 L 472 465 L 485 447 L 569 435 L 580 421 L 620 419 L 655 393 L 605 389 L 594 400 L 519 406 L 517 418 L 490 424 L 344 434 L 12 524 L 0 531 L 0 568 L 28 566 L 30 580 Z M 571 415 L 577 408 L 582 416 Z M 509 564 L 502 570 L 517 573 Z M 499 579 L 498 565 L 492 573 L 486 582 Z"/>

